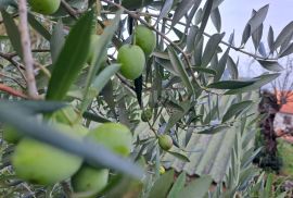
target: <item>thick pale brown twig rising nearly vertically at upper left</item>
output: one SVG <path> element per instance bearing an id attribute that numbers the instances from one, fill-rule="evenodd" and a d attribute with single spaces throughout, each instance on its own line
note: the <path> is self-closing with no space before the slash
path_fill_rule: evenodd
<path id="1" fill-rule="evenodd" d="M 36 85 L 35 74 L 34 74 L 34 59 L 30 51 L 30 39 L 28 32 L 28 23 L 27 23 L 27 7 L 26 0 L 18 1 L 18 13 L 20 13 L 20 34 L 22 40 L 22 49 L 24 55 L 24 64 L 25 64 L 25 74 L 27 81 L 28 96 L 33 99 L 38 98 L 38 89 Z"/>

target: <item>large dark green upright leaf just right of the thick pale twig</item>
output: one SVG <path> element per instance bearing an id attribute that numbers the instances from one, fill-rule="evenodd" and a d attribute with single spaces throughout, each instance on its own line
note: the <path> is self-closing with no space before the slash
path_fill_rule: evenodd
<path id="1" fill-rule="evenodd" d="M 84 15 L 72 28 L 54 64 L 47 99 L 62 100 L 88 58 L 93 13 Z"/>

